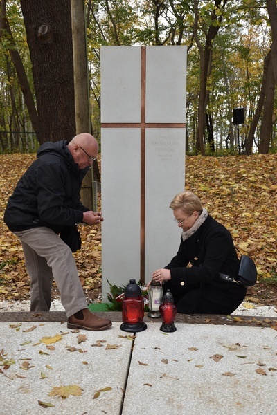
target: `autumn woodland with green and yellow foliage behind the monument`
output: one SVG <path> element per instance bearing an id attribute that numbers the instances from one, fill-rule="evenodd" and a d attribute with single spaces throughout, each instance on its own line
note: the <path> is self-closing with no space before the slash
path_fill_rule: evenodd
<path id="1" fill-rule="evenodd" d="M 0 26 L 0 151 L 34 151 L 38 143 L 11 55 L 18 51 L 33 92 L 24 19 L 19 0 L 2 0 L 0 8 L 4 3 L 11 35 Z M 263 79 L 269 80 L 271 73 L 266 72 L 265 58 L 277 41 L 270 3 L 274 6 L 272 0 L 86 0 L 93 135 L 100 141 L 100 46 L 182 44 L 188 46 L 187 153 L 242 153 L 247 140 L 248 153 L 275 152 L 276 91 L 264 114 L 268 90 L 262 90 Z M 272 10 L 276 13 L 276 2 Z M 240 129 L 233 125 L 236 107 L 245 112 Z"/>

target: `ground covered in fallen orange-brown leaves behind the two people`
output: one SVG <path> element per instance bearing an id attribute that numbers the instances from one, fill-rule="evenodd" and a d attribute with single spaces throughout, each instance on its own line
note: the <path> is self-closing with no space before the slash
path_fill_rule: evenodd
<path id="1" fill-rule="evenodd" d="M 2 301 L 29 298 L 29 279 L 20 243 L 2 218 L 8 196 L 34 158 L 30 154 L 0 155 Z M 186 188 L 195 192 L 208 212 L 231 231 L 240 253 L 248 253 L 256 262 L 258 284 L 249 289 L 248 300 L 262 305 L 276 305 L 276 167 L 276 154 L 186 157 Z M 169 199 L 173 196 L 169 195 Z M 87 299 L 95 301 L 101 294 L 101 229 L 100 225 L 80 225 L 80 228 L 82 250 L 74 256 Z M 53 295 L 58 295 L 55 286 Z"/>

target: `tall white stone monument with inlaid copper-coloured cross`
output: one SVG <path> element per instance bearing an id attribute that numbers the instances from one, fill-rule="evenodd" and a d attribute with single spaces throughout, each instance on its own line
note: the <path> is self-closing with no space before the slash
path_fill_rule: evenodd
<path id="1" fill-rule="evenodd" d="M 103 46 L 102 302 L 144 284 L 179 248 L 169 208 L 184 190 L 186 46 Z"/>

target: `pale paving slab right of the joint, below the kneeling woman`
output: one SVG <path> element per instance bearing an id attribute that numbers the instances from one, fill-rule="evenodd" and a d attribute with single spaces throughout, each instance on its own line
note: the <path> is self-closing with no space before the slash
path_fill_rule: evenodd
<path id="1" fill-rule="evenodd" d="M 277 332 L 175 324 L 136 333 L 123 415 L 277 414 Z"/>

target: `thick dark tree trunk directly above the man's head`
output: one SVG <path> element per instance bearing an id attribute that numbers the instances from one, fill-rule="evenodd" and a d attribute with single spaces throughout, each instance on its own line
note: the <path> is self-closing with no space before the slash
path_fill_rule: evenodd
<path id="1" fill-rule="evenodd" d="M 21 0 L 42 142 L 75 136 L 70 0 Z"/>

